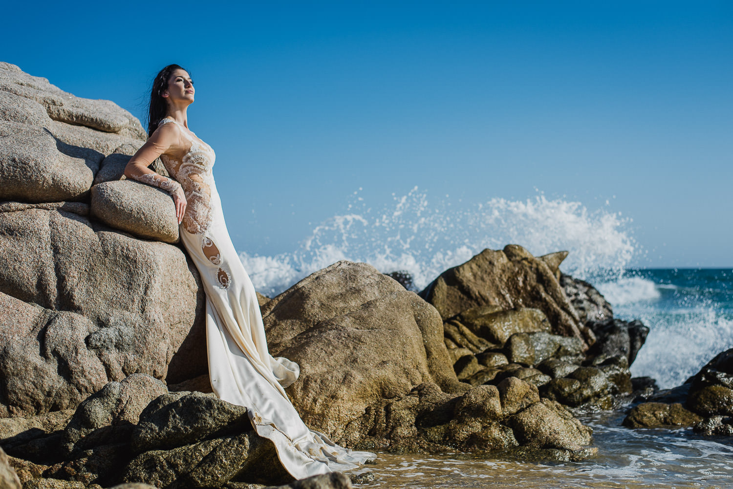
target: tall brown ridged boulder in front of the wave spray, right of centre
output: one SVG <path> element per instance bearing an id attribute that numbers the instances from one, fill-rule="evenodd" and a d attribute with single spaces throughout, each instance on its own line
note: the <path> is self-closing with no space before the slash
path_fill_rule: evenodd
<path id="1" fill-rule="evenodd" d="M 544 313 L 553 333 L 577 337 L 584 348 L 593 342 L 547 262 L 518 245 L 503 251 L 485 249 L 441 273 L 420 295 L 443 320 L 478 306 L 529 307 Z"/>

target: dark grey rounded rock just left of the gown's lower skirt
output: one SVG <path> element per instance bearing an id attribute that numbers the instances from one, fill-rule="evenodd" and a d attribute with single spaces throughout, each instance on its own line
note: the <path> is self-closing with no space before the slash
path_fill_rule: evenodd
<path id="1" fill-rule="evenodd" d="M 252 430 L 247 408 L 214 394 L 175 392 L 150 402 L 132 433 L 133 452 L 172 449 L 224 433 Z"/>

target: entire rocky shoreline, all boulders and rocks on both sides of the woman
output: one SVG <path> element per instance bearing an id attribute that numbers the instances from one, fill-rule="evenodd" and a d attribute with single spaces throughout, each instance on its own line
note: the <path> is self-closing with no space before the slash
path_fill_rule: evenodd
<path id="1" fill-rule="evenodd" d="M 122 177 L 144 139 L 116 104 L 0 63 L 0 487 L 350 487 L 293 482 L 210 393 L 172 202 Z M 270 351 L 301 366 L 303 421 L 353 449 L 580 460 L 595 449 L 575 415 L 629 407 L 631 428 L 733 435 L 733 350 L 671 391 L 632 378 L 649 329 L 566 256 L 487 249 L 418 293 L 336 262 L 260 296 Z"/>

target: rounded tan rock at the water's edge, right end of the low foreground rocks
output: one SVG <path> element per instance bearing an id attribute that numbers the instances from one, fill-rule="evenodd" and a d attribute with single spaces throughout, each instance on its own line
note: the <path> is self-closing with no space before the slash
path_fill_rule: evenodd
<path id="1" fill-rule="evenodd" d="M 509 418 L 517 441 L 526 446 L 577 451 L 591 442 L 592 430 L 558 402 L 542 399 Z"/>

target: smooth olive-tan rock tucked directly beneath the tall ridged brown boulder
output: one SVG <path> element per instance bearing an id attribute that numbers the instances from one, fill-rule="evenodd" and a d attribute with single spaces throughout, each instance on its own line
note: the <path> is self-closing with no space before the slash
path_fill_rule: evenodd
<path id="1" fill-rule="evenodd" d="M 550 331 L 544 313 L 526 307 L 504 310 L 499 306 L 478 306 L 462 312 L 457 321 L 500 348 L 512 334 Z"/>

